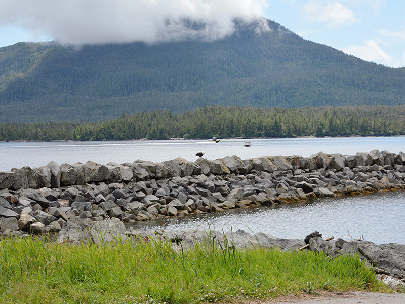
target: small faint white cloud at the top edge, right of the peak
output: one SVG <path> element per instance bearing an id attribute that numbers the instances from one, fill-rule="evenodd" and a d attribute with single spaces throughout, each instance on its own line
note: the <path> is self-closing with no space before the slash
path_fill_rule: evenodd
<path id="1" fill-rule="evenodd" d="M 311 0 L 305 5 L 304 12 L 311 22 L 326 23 L 330 27 L 351 25 L 360 21 L 354 17 L 352 10 L 339 2 L 319 3 Z"/>

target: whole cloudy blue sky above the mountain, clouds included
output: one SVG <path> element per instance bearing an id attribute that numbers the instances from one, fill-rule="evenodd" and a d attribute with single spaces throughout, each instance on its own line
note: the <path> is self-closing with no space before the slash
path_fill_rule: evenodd
<path id="1" fill-rule="evenodd" d="M 184 16 L 208 20 L 204 34 L 217 39 L 231 32 L 233 17 L 254 15 L 364 60 L 405 66 L 405 0 L 0 0 L 0 47 L 181 39 L 195 34 L 181 29 Z"/>

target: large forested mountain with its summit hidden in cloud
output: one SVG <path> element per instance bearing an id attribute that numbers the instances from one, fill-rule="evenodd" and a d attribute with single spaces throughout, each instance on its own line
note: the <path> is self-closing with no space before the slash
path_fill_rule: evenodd
<path id="1" fill-rule="evenodd" d="M 0 121 L 105 121 L 207 105 L 402 105 L 405 68 L 313 43 L 267 20 L 217 41 L 0 48 Z"/>

